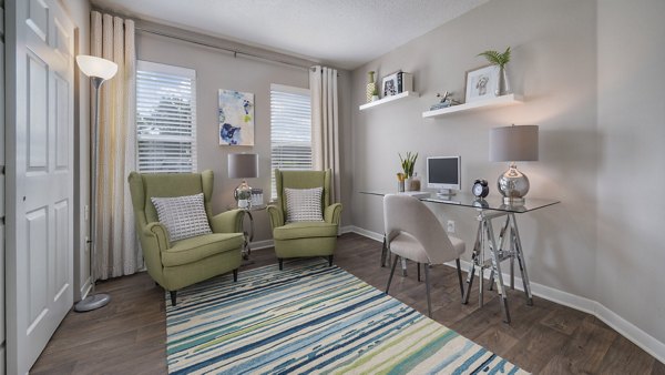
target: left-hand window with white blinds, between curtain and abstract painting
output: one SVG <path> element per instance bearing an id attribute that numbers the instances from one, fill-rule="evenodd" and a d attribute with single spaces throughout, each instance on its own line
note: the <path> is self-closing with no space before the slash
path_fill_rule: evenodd
<path id="1" fill-rule="evenodd" d="M 196 171 L 196 71 L 136 65 L 139 172 Z"/>

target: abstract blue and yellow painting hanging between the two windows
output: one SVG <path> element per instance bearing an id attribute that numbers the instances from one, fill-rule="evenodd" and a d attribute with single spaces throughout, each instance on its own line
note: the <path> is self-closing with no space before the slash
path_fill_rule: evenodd
<path id="1" fill-rule="evenodd" d="M 219 90 L 219 145 L 254 145 L 254 94 Z"/>

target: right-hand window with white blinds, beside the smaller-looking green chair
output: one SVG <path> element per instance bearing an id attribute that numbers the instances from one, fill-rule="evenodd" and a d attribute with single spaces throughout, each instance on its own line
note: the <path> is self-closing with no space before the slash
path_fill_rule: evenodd
<path id="1" fill-rule="evenodd" d="M 270 85 L 272 196 L 277 197 L 275 169 L 311 169 L 311 100 L 309 90 Z"/>

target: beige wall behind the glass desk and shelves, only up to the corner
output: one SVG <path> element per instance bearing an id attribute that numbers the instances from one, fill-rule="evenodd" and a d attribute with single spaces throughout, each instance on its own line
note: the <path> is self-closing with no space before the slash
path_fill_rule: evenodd
<path id="1" fill-rule="evenodd" d="M 592 1 L 491 1 L 354 71 L 354 103 L 364 101 L 366 72 L 379 77 L 397 69 L 412 72 L 421 97 L 369 111 L 354 111 L 354 191 L 396 188 L 398 152 L 424 158 L 462 158 L 462 189 L 479 178 L 490 194 L 507 163 L 489 162 L 489 130 L 511 123 L 540 126 L 540 161 L 521 163 L 532 197 L 563 203 L 520 215 L 532 282 L 584 297 L 594 295 L 595 263 L 595 3 Z M 437 120 L 422 111 L 437 92 L 463 98 L 464 72 L 485 64 L 488 49 L 513 49 L 509 74 L 525 103 Z M 474 212 L 433 206 L 442 221 L 457 222 L 457 235 L 471 247 Z M 354 224 L 381 233 L 380 199 L 354 195 Z M 469 256 L 470 251 L 467 252 Z"/>

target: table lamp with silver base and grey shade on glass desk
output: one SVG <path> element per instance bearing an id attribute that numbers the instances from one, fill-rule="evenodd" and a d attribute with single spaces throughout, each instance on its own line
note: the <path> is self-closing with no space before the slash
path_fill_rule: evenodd
<path id="1" fill-rule="evenodd" d="M 515 162 L 538 161 L 538 125 L 502 126 L 490 130 L 490 161 L 510 162 L 497 185 L 503 203 L 523 204 L 529 179 L 518 171 Z"/>

